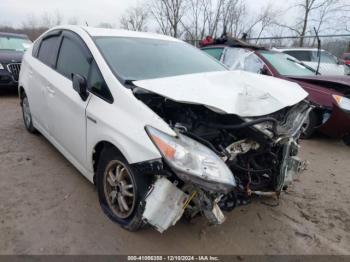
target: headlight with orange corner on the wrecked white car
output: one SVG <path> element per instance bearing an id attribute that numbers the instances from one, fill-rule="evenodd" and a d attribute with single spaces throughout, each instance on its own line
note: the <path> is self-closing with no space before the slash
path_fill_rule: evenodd
<path id="1" fill-rule="evenodd" d="M 236 186 L 230 169 L 209 148 L 182 134 L 170 136 L 150 126 L 146 130 L 181 180 L 217 192 L 229 192 Z"/>

